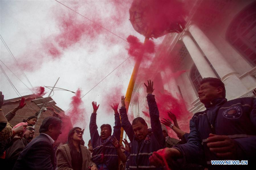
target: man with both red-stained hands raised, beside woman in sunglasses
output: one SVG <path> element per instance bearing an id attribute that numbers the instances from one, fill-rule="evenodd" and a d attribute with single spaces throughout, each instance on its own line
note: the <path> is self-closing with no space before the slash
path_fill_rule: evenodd
<path id="1" fill-rule="evenodd" d="M 101 135 L 98 132 L 98 126 L 96 124 L 96 115 L 99 105 L 97 102 L 92 102 L 93 113 L 91 114 L 91 120 L 89 124 L 91 144 L 93 146 L 92 161 L 97 164 L 100 170 L 112 170 L 118 169 L 118 155 L 116 148 L 112 144 L 112 139 L 120 140 L 121 134 L 121 122 L 120 115 L 118 113 L 118 103 L 114 104 L 112 109 L 114 110 L 115 126 L 113 135 L 111 136 L 112 129 L 109 124 L 101 125 Z"/>

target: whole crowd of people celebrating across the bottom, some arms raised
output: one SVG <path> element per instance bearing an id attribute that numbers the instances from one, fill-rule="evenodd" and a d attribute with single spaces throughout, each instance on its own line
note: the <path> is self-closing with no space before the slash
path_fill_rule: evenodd
<path id="1" fill-rule="evenodd" d="M 180 129 L 175 113 L 159 119 L 153 95 L 153 81 L 145 84 L 150 127 L 142 117 L 129 120 L 125 97 L 111 107 L 115 125 L 96 123 L 99 105 L 92 102 L 88 148 L 84 146 L 84 129 L 70 129 L 66 144 L 56 146 L 62 133 L 62 120 L 47 117 L 42 121 L 40 135 L 34 138 L 37 117 L 31 116 L 12 126 L 9 121 L 23 108 L 19 106 L 4 115 L 0 92 L 0 161 L 5 169 L 253 169 L 256 158 L 256 98 L 246 97 L 227 101 L 224 83 L 217 78 L 204 78 L 198 96 L 206 110 L 194 114 L 190 132 Z M 130 121 L 132 123 L 130 123 Z M 168 129 L 177 134 L 169 137 Z M 121 128 L 130 142 L 121 139 Z M 122 144 L 123 142 L 123 144 Z M 247 160 L 248 165 L 213 165 L 213 160 Z"/>

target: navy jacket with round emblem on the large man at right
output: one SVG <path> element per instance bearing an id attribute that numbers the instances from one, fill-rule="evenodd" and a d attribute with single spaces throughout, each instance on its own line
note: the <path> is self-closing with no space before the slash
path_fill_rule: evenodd
<path id="1" fill-rule="evenodd" d="M 237 160 L 256 158 L 256 98 L 237 98 L 227 101 L 216 98 L 204 105 L 206 110 L 194 114 L 190 120 L 190 134 L 186 144 L 177 145 L 187 163 L 204 163 L 210 167 L 211 160 L 221 160 L 207 147 L 210 133 L 227 135 L 239 148 Z M 213 165 L 214 166 L 214 165 Z"/>

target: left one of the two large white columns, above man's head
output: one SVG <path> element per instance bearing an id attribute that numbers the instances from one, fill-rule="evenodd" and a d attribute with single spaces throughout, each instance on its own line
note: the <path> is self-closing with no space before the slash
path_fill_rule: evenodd
<path id="1" fill-rule="evenodd" d="M 204 58 L 203 54 L 201 53 L 200 49 L 196 46 L 192 38 L 189 34 L 185 34 L 182 37 L 182 41 L 185 44 L 186 48 L 189 51 L 189 54 L 194 61 L 196 68 L 198 69 L 199 73 L 201 74 L 202 78 L 204 77 L 216 77 L 215 73 L 213 72 L 212 68 Z"/>

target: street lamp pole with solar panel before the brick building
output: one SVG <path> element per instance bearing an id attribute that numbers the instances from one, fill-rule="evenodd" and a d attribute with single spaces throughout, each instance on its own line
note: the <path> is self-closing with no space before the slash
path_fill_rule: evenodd
<path id="1" fill-rule="evenodd" d="M 56 104 L 56 102 L 50 97 L 52 91 L 54 91 L 55 88 L 56 88 L 56 90 L 70 91 L 70 90 L 67 90 L 67 89 L 62 89 L 62 88 L 59 88 L 59 87 L 55 87 L 59 79 L 60 79 L 60 77 L 57 79 L 56 83 L 52 87 L 48 97 L 43 97 L 43 98 L 38 98 L 38 99 L 31 100 L 32 102 L 34 102 L 36 104 L 36 106 L 38 106 L 40 108 L 40 111 L 39 111 L 39 113 L 37 115 L 37 120 L 41 116 L 42 112 L 46 111 L 46 107 L 45 106 L 51 106 L 51 105 Z M 50 89 L 49 88 L 50 86 L 44 86 L 44 87 Z M 73 91 L 70 91 L 70 92 L 75 93 Z M 33 127 L 35 127 L 35 125 Z"/>

